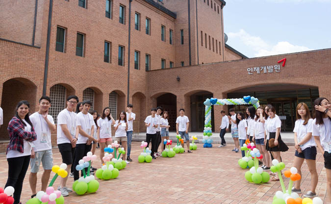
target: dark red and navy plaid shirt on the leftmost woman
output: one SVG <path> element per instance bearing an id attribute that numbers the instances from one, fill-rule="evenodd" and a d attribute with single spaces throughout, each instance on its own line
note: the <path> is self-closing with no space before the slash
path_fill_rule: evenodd
<path id="1" fill-rule="evenodd" d="M 9 150 L 17 150 L 20 153 L 24 153 L 24 139 L 26 141 L 32 142 L 37 139 L 37 134 L 34 131 L 34 128 L 31 128 L 31 132 L 27 132 L 24 129 L 23 123 L 20 121 L 20 119 L 13 117 L 9 124 L 8 124 L 8 132 L 9 132 L 9 144 L 7 147 L 7 152 Z"/>

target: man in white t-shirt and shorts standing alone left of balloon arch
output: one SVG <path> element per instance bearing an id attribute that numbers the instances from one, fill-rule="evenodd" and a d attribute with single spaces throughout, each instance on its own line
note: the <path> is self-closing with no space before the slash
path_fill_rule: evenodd
<path id="1" fill-rule="evenodd" d="M 185 114 L 184 112 L 185 112 L 184 108 L 179 109 L 179 116 L 176 120 L 176 132 L 177 134 L 180 134 L 180 137 L 182 139 L 185 137 L 187 152 L 192 153 L 192 151 L 190 151 L 190 139 L 188 136 L 188 128 L 190 126 L 189 124 L 190 121 L 188 120 L 188 117 L 184 115 Z"/>

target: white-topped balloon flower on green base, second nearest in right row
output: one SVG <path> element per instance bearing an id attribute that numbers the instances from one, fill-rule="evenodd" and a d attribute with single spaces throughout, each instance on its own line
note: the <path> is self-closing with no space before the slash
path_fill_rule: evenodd
<path id="1" fill-rule="evenodd" d="M 254 148 L 253 151 L 250 152 L 250 154 L 254 158 L 254 166 L 245 173 L 246 180 L 248 180 L 249 182 L 254 182 L 256 184 L 268 182 L 270 179 L 269 174 L 267 172 L 263 172 L 263 169 L 261 167 L 258 167 L 258 159 L 261 159 L 263 156 L 256 148 Z"/>

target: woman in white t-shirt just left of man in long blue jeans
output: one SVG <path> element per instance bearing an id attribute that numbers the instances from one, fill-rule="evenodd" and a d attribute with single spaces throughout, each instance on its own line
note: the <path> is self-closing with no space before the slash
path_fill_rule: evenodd
<path id="1" fill-rule="evenodd" d="M 127 114 L 125 111 L 122 111 L 118 117 L 119 119 L 116 121 L 115 127 L 115 141 L 118 144 L 122 144 L 125 152 L 127 153 Z M 128 163 L 126 160 L 126 153 L 122 154 L 122 159 Z"/>

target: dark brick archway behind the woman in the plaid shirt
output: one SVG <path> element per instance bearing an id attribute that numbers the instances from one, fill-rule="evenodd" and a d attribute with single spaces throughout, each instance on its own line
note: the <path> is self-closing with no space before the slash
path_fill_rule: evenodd
<path id="1" fill-rule="evenodd" d="M 0 128 L 0 139 L 9 139 L 7 126 L 15 115 L 15 107 L 19 101 L 30 103 L 30 114 L 36 110 L 37 86 L 26 78 L 12 78 L 3 83 L 1 108 L 3 109 L 3 125 Z"/>

